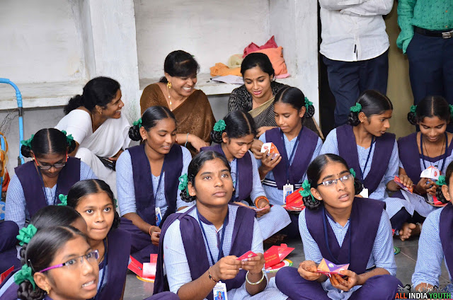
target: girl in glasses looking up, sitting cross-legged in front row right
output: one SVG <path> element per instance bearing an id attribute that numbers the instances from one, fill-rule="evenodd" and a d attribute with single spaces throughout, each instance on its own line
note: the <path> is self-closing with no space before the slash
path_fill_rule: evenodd
<path id="1" fill-rule="evenodd" d="M 346 161 L 323 154 L 310 163 L 304 183 L 306 209 L 299 216 L 305 261 L 277 272 L 278 289 L 291 299 L 394 299 L 393 239 L 384 202 L 355 197 L 362 185 Z M 317 272 L 322 259 L 348 270 Z M 402 285 L 402 284 L 401 284 Z"/>

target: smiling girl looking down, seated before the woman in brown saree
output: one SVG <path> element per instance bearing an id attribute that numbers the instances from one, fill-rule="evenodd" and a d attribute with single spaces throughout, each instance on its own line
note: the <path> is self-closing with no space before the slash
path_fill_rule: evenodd
<path id="1" fill-rule="evenodd" d="M 117 161 L 121 228 L 132 237 L 132 256 L 149 261 L 157 253 L 161 226 L 170 214 L 188 206 L 180 199 L 179 177 L 187 173 L 190 152 L 176 143 L 176 118 L 164 106 L 151 106 L 129 130 L 142 141 Z"/>

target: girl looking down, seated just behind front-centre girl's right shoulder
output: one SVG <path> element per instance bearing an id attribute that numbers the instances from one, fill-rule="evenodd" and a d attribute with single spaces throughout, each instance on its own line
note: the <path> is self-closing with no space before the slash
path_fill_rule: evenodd
<path id="1" fill-rule="evenodd" d="M 241 110 L 233 110 L 214 125 L 211 139 L 217 145 L 202 148 L 202 151 L 217 151 L 229 161 L 234 183 L 231 202 L 251 209 L 263 209 L 256 215 L 261 234 L 266 240 L 284 229 L 291 223 L 291 219 L 280 205 L 270 207 L 261 185 L 256 159 L 250 151 L 255 136 L 256 127 L 251 115 Z"/>

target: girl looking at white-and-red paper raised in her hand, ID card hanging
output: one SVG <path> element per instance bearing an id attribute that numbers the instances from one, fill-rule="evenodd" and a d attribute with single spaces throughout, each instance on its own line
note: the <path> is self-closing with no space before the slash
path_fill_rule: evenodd
<path id="1" fill-rule="evenodd" d="M 275 95 L 274 115 L 278 127 L 261 134 L 260 141 L 273 142 L 280 154 L 263 154 L 257 163 L 270 204 L 284 205 L 286 196 L 301 188 L 306 168 L 323 143 L 318 134 L 303 126 L 304 118 L 314 115 L 314 107 L 299 88 L 288 86 Z M 298 215 L 289 217 L 291 223 L 280 233 L 294 238 L 299 236 Z"/>

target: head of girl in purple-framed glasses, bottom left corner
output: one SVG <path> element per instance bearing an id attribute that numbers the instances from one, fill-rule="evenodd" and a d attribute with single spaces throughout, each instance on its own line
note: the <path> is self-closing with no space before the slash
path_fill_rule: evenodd
<path id="1" fill-rule="evenodd" d="M 25 250 L 25 265 L 14 275 L 21 300 L 91 299 L 98 284 L 97 250 L 73 227 L 42 229 Z"/>

